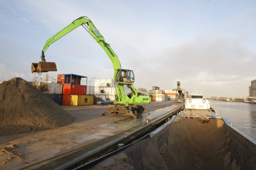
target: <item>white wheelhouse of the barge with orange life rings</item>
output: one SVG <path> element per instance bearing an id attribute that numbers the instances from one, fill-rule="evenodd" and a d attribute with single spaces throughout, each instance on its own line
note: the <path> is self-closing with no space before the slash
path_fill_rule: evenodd
<path id="1" fill-rule="evenodd" d="M 210 102 L 203 94 L 191 94 L 189 97 L 186 98 L 185 109 L 210 109 Z"/>

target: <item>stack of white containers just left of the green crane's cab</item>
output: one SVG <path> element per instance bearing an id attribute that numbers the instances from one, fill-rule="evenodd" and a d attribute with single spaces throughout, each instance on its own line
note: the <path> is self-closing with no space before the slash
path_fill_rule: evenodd
<path id="1" fill-rule="evenodd" d="M 95 79 L 94 95 L 106 101 L 115 101 L 115 82 L 113 79 Z"/>

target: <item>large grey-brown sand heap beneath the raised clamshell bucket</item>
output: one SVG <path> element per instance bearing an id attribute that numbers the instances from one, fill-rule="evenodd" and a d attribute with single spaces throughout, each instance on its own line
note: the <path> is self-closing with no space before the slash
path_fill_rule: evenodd
<path id="1" fill-rule="evenodd" d="M 0 136 L 56 128 L 74 120 L 22 78 L 0 84 Z"/>

